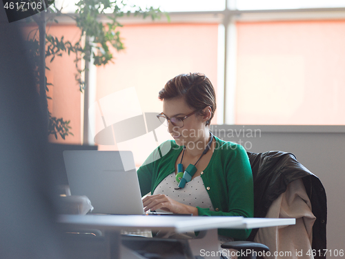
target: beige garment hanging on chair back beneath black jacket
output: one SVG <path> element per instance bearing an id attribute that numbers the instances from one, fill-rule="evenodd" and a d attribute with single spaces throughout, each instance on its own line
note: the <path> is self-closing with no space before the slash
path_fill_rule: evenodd
<path id="1" fill-rule="evenodd" d="M 264 258 L 313 258 L 311 244 L 316 218 L 302 179 L 288 184 L 286 191 L 270 205 L 266 218 L 296 218 L 296 224 L 259 229 L 254 241 L 270 248 L 270 256 Z"/>

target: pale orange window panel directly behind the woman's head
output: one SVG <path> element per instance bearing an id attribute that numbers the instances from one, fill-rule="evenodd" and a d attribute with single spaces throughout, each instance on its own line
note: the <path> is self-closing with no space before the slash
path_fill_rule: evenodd
<path id="1" fill-rule="evenodd" d="M 115 63 L 97 68 L 95 102 L 134 87 L 141 111 L 160 113 L 159 90 L 168 79 L 190 72 L 206 74 L 217 89 L 217 24 L 126 25 L 120 32 L 126 49 L 116 52 L 112 48 Z M 127 98 L 123 113 L 134 105 L 134 98 Z M 116 144 L 99 146 L 100 150 L 116 148 Z"/>

